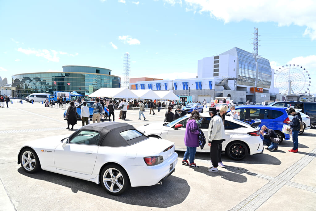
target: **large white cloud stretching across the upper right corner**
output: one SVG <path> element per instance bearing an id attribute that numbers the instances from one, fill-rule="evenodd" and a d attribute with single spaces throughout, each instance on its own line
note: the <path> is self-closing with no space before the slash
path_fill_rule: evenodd
<path id="1" fill-rule="evenodd" d="M 163 0 L 164 3 L 174 5 L 182 2 Z M 184 0 L 185 11 L 207 12 L 216 20 L 228 22 L 276 22 L 279 27 L 291 24 L 307 27 L 303 35 L 316 40 L 316 1 L 314 0 L 264 0 L 264 1 L 210 1 Z"/>

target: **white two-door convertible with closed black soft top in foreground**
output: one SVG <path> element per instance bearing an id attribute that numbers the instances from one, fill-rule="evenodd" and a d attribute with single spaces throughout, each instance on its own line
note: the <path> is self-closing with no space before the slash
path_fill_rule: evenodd
<path id="1" fill-rule="evenodd" d="M 101 183 L 112 195 L 129 186 L 161 185 L 177 158 L 174 143 L 117 122 L 86 125 L 67 138 L 30 141 L 18 152 L 18 164 L 28 173 L 43 169 Z"/>

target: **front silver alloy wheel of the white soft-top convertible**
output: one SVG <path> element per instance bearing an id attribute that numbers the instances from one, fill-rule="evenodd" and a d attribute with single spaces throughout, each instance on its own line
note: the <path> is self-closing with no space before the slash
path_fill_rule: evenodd
<path id="1" fill-rule="evenodd" d="M 32 149 L 24 149 L 21 152 L 21 166 L 28 173 L 36 172 L 40 169 L 40 160 Z"/>

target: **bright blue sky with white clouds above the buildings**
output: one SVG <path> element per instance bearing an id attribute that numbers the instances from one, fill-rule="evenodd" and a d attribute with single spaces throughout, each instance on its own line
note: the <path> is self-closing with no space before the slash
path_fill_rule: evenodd
<path id="1" fill-rule="evenodd" d="M 315 11 L 314 0 L 0 0 L 0 76 L 85 65 L 123 81 L 128 52 L 130 78 L 195 78 L 198 59 L 252 52 L 257 27 L 258 54 L 306 68 L 316 94 Z"/>

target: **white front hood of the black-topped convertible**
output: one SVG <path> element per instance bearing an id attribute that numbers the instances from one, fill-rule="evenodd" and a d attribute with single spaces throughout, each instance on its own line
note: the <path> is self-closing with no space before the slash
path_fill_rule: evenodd
<path id="1" fill-rule="evenodd" d="M 69 135 L 58 135 L 58 136 L 50 136 L 46 138 L 36 139 L 33 141 L 29 141 L 25 143 L 23 146 L 31 146 L 32 148 L 43 148 L 43 149 L 52 149 L 54 150 L 59 144 L 61 144 L 61 140 L 69 137 Z"/>

